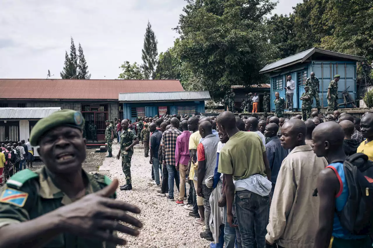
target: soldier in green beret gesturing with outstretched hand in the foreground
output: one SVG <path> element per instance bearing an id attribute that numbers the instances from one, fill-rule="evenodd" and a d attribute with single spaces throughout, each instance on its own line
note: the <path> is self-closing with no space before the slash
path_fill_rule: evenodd
<path id="1" fill-rule="evenodd" d="M 83 125 L 80 112 L 63 109 L 32 128 L 30 143 L 40 146 L 45 166 L 24 169 L 0 188 L 0 248 L 115 248 L 125 244 L 116 231 L 138 235 L 120 223 L 142 226 L 126 213 L 140 209 L 115 200 L 118 180 L 82 169 Z"/>

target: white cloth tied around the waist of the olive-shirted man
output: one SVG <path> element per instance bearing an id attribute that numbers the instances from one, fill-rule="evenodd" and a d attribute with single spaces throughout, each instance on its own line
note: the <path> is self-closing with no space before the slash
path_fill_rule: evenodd
<path id="1" fill-rule="evenodd" d="M 261 196 L 267 196 L 271 192 L 272 182 L 260 174 L 252 175 L 245 179 L 233 180 L 236 191 L 248 190 Z"/>

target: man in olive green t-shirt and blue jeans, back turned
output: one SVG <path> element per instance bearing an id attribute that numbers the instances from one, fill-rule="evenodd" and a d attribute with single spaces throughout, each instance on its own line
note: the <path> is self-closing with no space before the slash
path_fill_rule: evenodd
<path id="1" fill-rule="evenodd" d="M 242 247 L 253 247 L 254 242 L 258 247 L 264 247 L 269 218 L 269 195 L 261 196 L 249 190 L 235 191 L 233 184 L 233 179 L 246 179 L 256 174 L 271 178 L 263 141 L 254 132 L 239 131 L 235 116 L 229 111 L 217 117 L 217 126 L 219 131 L 229 136 L 229 141 L 220 151 L 218 165 L 218 172 L 225 175 L 227 222 L 233 226 L 232 204 L 233 196 L 236 195 L 235 210 Z"/>

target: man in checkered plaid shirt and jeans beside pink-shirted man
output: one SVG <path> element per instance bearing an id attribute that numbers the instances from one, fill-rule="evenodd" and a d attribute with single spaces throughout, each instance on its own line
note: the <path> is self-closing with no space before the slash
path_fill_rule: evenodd
<path id="1" fill-rule="evenodd" d="M 176 139 L 181 134 L 179 120 L 173 117 L 170 121 L 171 127 L 163 132 L 162 136 L 162 153 L 164 155 L 163 163 L 166 163 L 168 171 L 168 196 L 167 200 L 173 201 L 173 179 L 175 178 L 176 187 L 179 190 L 179 172 L 175 167 L 175 149 Z"/>

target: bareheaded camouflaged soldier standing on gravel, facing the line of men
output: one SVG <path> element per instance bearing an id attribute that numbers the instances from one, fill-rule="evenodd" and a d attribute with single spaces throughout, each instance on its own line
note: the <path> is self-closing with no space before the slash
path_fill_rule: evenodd
<path id="1" fill-rule="evenodd" d="M 117 159 L 122 157 L 122 170 L 126 176 L 126 184 L 120 190 L 132 190 L 131 181 L 131 159 L 134 153 L 134 146 L 139 143 L 139 139 L 131 129 L 128 128 L 128 120 L 123 120 L 122 134 L 120 135 L 120 150 Z"/>

